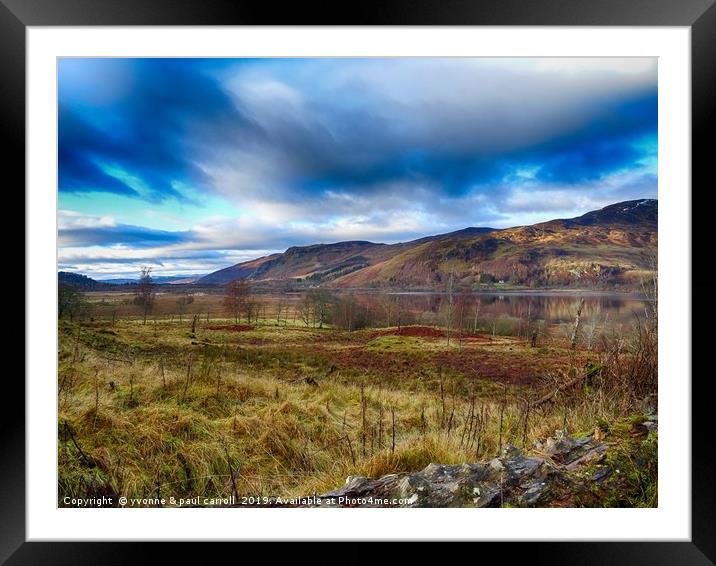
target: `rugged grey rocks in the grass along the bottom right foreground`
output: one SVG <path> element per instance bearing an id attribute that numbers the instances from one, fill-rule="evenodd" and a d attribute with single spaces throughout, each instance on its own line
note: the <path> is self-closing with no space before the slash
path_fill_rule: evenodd
<path id="1" fill-rule="evenodd" d="M 649 431 L 656 422 L 649 423 Z M 648 433 L 647 432 L 647 433 Z M 317 506 L 339 507 L 557 507 L 590 505 L 595 485 L 612 469 L 610 443 L 601 434 L 556 435 L 525 455 L 507 445 L 489 462 L 430 464 L 414 473 L 378 479 L 350 476 L 321 495 Z M 619 473 L 619 470 L 616 470 Z M 580 500 L 580 497 L 582 498 Z"/>

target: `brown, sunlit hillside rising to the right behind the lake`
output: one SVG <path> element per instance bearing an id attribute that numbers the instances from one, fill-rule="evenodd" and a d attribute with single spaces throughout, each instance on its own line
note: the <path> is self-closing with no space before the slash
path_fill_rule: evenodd
<path id="1" fill-rule="evenodd" d="M 654 267 L 658 202 L 626 201 L 570 219 L 496 230 L 466 228 L 399 244 L 292 247 L 199 279 L 292 281 L 339 288 L 629 287 Z"/>

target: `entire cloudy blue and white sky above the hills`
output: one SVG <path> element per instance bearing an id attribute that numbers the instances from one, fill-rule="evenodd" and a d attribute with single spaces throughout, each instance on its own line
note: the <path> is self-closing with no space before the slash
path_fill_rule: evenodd
<path id="1" fill-rule="evenodd" d="M 208 273 L 657 196 L 655 59 L 62 59 L 59 269 Z"/>

